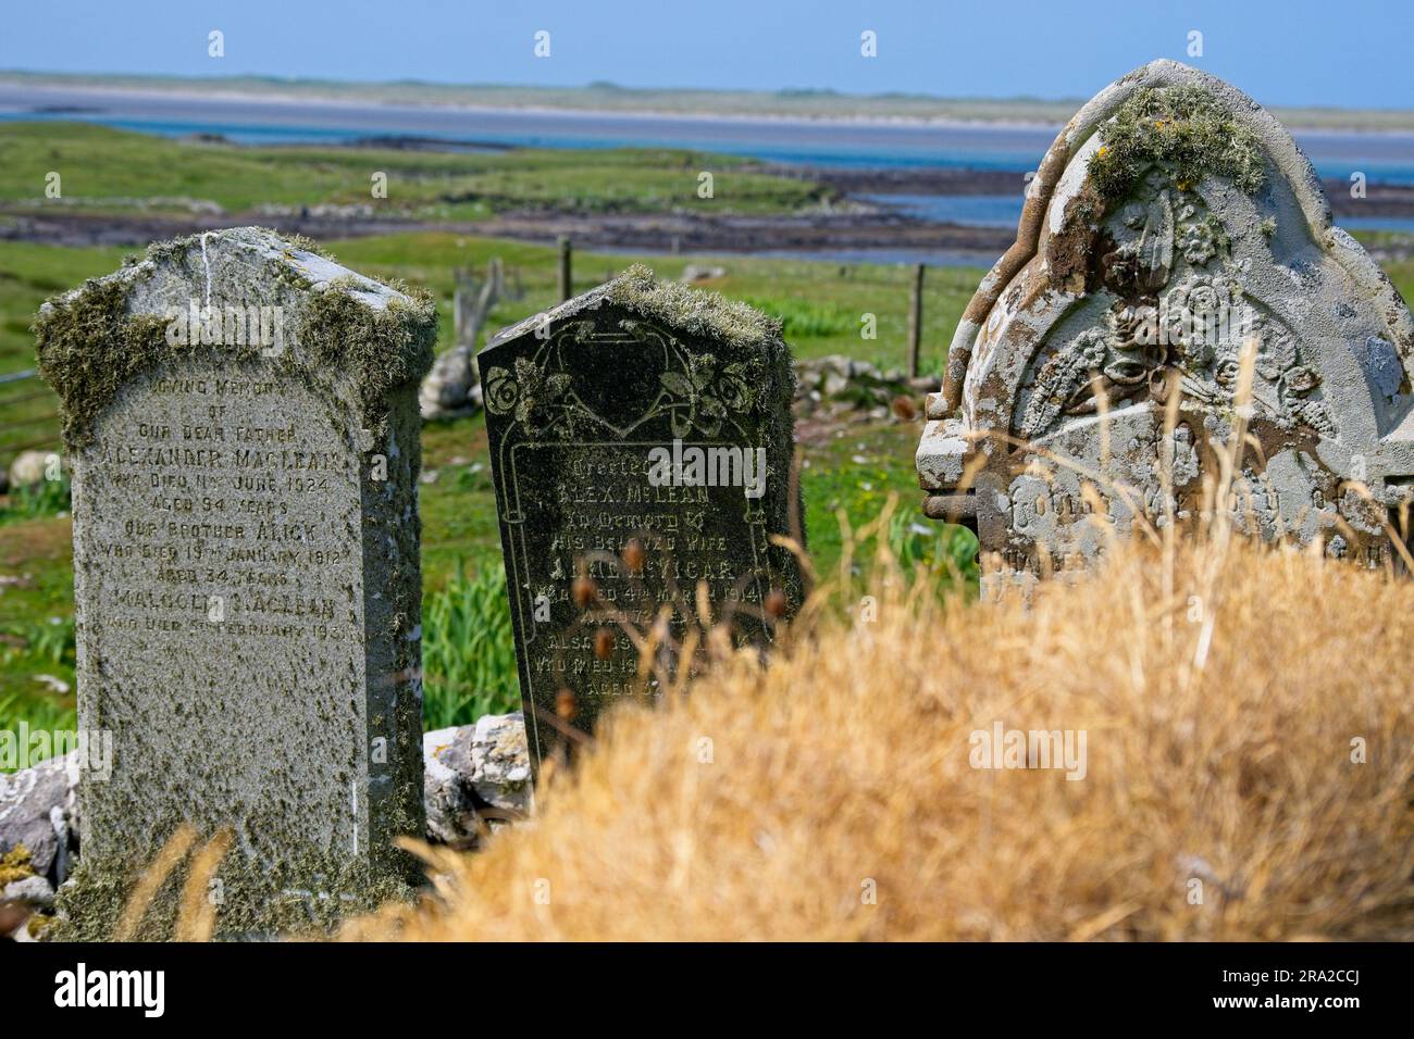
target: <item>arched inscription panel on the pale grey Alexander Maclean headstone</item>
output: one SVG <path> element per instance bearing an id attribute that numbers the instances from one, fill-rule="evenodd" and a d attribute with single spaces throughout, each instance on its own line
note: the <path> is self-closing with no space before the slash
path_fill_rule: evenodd
<path id="1" fill-rule="evenodd" d="M 238 365 L 124 387 L 79 457 L 81 666 L 99 715 L 178 712 L 180 741 L 117 729 L 119 766 L 127 751 L 130 780 L 154 803 L 178 789 L 174 811 L 221 818 L 230 790 L 257 792 L 281 806 L 284 843 L 294 830 L 358 854 L 359 468 L 327 416 L 298 382 Z M 212 782 L 192 749 L 233 732 L 250 745 L 223 755 L 236 775 Z"/>

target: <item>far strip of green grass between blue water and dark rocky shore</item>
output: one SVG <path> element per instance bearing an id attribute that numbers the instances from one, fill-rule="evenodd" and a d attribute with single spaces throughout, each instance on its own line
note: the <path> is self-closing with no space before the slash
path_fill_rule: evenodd
<path id="1" fill-rule="evenodd" d="M 673 148 L 578 148 L 451 154 L 396 148 L 267 147 L 168 140 L 86 123 L 0 124 L 0 204 L 82 212 L 163 213 L 194 202 L 247 212 L 260 205 L 366 205 L 375 216 L 478 221 L 506 209 L 660 213 L 785 213 L 831 192 L 759 172 L 728 155 Z M 45 196 L 58 172 L 59 199 Z M 373 174 L 386 174 L 386 198 Z M 713 196 L 699 198 L 699 174 Z"/>

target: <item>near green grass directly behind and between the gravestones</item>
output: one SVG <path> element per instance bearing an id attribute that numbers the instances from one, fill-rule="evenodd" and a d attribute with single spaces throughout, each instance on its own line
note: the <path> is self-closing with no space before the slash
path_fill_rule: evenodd
<path id="1" fill-rule="evenodd" d="M 127 137 L 120 136 L 124 147 L 133 146 Z M 7 140 L 13 144 L 13 139 Z M 148 139 L 140 140 L 148 143 Z M 150 147 L 178 146 L 150 141 Z M 221 154 L 204 177 L 257 177 L 259 168 L 271 164 L 252 167 L 252 154 Z M 284 155 L 287 153 L 281 151 Z M 659 168 L 659 153 L 636 158 L 648 170 Z M 222 172 L 225 163 L 230 165 Z M 151 177 L 177 177 L 170 170 L 163 171 L 165 165 L 170 163 L 154 161 Z M 140 184 L 153 182 L 134 177 L 132 170 L 116 172 L 115 178 L 100 189 L 103 196 L 136 192 Z M 239 184 L 208 191 L 211 180 L 202 181 L 205 187 L 199 188 L 181 187 L 177 180 L 160 184 L 163 192 L 198 191 L 232 204 L 249 201 L 256 191 Z M 68 189 L 68 181 L 65 187 Z M 522 189 L 529 188 L 522 185 Z M 324 245 L 355 270 L 380 278 L 406 278 L 431 290 L 438 298 L 441 348 L 451 339 L 452 271 L 457 267 L 484 267 L 493 256 L 506 266 L 515 298 L 503 298 L 492 311 L 492 331 L 536 314 L 557 298 L 556 253 L 547 246 L 427 232 Z M 117 269 L 130 252 L 0 242 L 0 375 L 34 365 L 30 322 L 47 297 Z M 577 253 L 575 288 L 590 288 L 635 260 L 648 263 L 662 277 L 679 277 L 687 263 L 701 259 Z M 727 274 L 711 287 L 781 317 L 797 356 L 847 353 L 884 368 L 904 363 L 909 277 L 904 267 L 735 256 L 718 257 L 714 263 L 724 266 Z M 942 370 L 943 344 L 980 274 L 962 269 L 929 273 L 923 329 L 928 370 Z M 872 339 L 861 338 L 861 318 L 867 312 L 877 317 L 877 338 Z M 0 464 L 7 465 L 24 447 L 48 450 L 55 445 L 55 409 L 57 400 L 37 380 L 0 386 Z M 949 532 L 921 522 L 912 471 L 918 424 L 874 421 L 837 433 L 840 435 L 829 442 L 809 447 L 802 474 L 817 567 L 833 568 L 839 558 L 837 513 L 843 512 L 857 529 L 878 513 L 889 493 L 896 493 L 902 502 L 899 520 L 889 532 L 901 554 L 923 563 L 969 554 L 956 529 Z M 481 417 L 431 424 L 424 428 L 423 450 L 430 478 L 421 486 L 427 722 L 444 725 L 469 721 L 491 710 L 510 710 L 516 686 L 503 626 L 508 622 L 505 599 L 495 584 L 501 550 L 485 424 Z M 71 724 L 72 618 L 71 524 L 65 502 L 58 493 L 38 500 L 0 498 L 0 729 L 13 729 L 20 720 L 31 727 Z M 472 650 L 468 639 L 477 632 L 499 632 L 495 649 Z M 467 666 L 469 659 L 482 654 L 489 662 L 486 666 Z"/>

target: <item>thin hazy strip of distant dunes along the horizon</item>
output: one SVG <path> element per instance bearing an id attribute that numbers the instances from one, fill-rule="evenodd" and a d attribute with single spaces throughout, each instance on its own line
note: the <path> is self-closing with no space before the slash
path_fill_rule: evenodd
<path id="1" fill-rule="evenodd" d="M 474 107 L 546 107 L 602 112 L 665 112 L 805 119 L 916 119 L 1001 123 L 1065 123 L 1082 98 L 932 98 L 911 93 L 847 95 L 833 90 L 648 90 L 595 82 L 588 86 L 498 86 L 493 83 L 356 83 L 269 76 L 180 78 L 0 71 L 0 81 L 34 86 L 161 90 L 182 95 L 240 93 L 301 100 L 356 100 Z M 1414 112 L 1400 109 L 1274 107 L 1287 126 L 1309 130 L 1414 130 Z"/>

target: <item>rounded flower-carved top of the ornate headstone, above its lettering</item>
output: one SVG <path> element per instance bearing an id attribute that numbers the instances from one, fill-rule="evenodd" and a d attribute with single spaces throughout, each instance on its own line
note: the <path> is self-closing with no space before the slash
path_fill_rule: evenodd
<path id="1" fill-rule="evenodd" d="M 1096 370 L 1118 403 L 1176 373 L 1185 399 L 1220 407 L 1253 338 L 1256 404 L 1278 427 L 1349 447 L 1406 423 L 1414 321 L 1332 225 L 1311 163 L 1232 85 L 1154 61 L 1056 137 L 957 327 L 932 417 L 960 409 L 964 425 L 1044 438 L 1083 410 Z"/>

